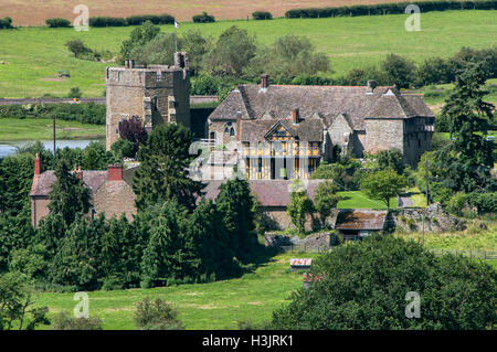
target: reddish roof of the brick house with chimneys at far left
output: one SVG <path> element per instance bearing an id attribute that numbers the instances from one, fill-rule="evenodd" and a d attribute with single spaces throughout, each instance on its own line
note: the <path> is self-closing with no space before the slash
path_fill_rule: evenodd
<path id="1" fill-rule="evenodd" d="M 83 182 L 95 193 L 107 180 L 107 171 L 83 170 Z M 33 178 L 31 196 L 47 196 L 52 184 L 56 181 L 55 172 L 47 170 Z"/>

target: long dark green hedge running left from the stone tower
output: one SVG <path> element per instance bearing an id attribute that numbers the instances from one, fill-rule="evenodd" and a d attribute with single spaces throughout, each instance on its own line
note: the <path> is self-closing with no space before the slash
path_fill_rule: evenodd
<path id="1" fill-rule="evenodd" d="M 65 121 L 105 125 L 106 106 L 102 104 L 0 105 L 0 118 L 53 118 Z"/>

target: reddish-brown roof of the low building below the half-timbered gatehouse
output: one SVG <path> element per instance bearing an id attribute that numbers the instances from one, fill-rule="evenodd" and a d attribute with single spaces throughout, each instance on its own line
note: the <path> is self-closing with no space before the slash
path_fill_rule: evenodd
<path id="1" fill-rule="evenodd" d="M 325 180 L 308 180 L 307 195 L 314 200 L 316 189 Z M 205 181 L 204 181 L 205 182 Z M 207 181 L 203 189 L 205 199 L 215 200 L 219 194 L 219 186 L 226 182 L 225 180 Z M 293 180 L 250 180 L 251 190 L 257 195 L 262 206 L 286 206 L 289 203 L 290 185 Z"/>

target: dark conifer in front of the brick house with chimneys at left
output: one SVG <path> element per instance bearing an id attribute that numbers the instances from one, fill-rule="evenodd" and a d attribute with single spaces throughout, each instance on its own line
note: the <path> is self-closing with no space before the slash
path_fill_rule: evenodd
<path id="1" fill-rule="evenodd" d="M 70 226 L 76 216 L 86 214 L 91 207 L 89 189 L 80 179 L 77 172 L 71 173 L 67 162 L 62 159 L 55 167 L 56 181 L 49 193 L 50 213 L 61 214 Z"/>

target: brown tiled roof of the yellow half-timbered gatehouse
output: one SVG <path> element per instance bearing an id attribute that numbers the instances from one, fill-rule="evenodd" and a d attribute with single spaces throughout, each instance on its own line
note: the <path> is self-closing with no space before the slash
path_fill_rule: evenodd
<path id="1" fill-rule="evenodd" d="M 276 124 L 282 124 L 293 136 L 305 141 L 321 141 L 324 122 L 320 118 L 308 118 L 294 125 L 290 118 L 273 120 L 241 120 L 241 141 L 264 141 L 265 135 Z"/>

